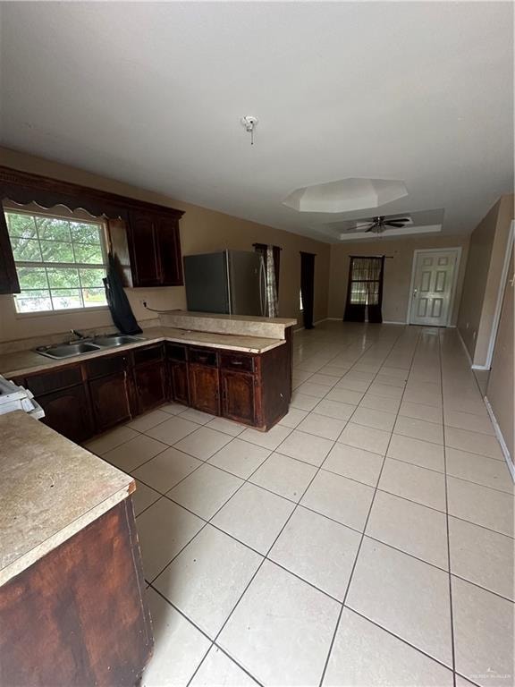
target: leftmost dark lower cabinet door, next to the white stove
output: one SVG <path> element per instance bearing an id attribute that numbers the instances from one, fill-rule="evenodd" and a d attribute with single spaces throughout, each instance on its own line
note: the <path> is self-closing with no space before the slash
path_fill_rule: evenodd
<path id="1" fill-rule="evenodd" d="M 36 396 L 45 411 L 42 420 L 63 437 L 80 444 L 93 436 L 93 423 L 84 386 L 71 386 L 51 394 Z"/>

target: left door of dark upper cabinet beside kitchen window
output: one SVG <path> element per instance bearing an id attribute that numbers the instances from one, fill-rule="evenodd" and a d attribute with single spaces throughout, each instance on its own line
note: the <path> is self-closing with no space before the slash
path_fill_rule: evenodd
<path id="1" fill-rule="evenodd" d="M 131 212 L 129 236 L 133 286 L 160 285 L 155 216 Z"/>

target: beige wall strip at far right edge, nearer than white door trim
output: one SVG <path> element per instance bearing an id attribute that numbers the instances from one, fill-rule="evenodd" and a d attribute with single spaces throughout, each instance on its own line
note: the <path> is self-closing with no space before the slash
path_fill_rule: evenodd
<path id="1" fill-rule="evenodd" d="M 513 276 L 515 275 L 515 264 L 513 262 L 513 249 L 511 249 L 511 263 L 508 270 L 508 279 L 504 289 L 502 300 L 501 318 L 497 337 L 495 339 L 494 357 L 492 360 L 492 370 L 488 379 L 486 396 L 495 419 L 501 428 L 502 437 L 510 452 L 511 461 L 515 462 L 515 408 L 514 408 L 514 364 L 513 364 L 513 315 L 515 302 L 513 299 Z"/>

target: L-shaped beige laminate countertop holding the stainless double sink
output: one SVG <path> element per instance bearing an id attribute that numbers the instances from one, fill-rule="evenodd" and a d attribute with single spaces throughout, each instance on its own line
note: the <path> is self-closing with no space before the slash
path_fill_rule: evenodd
<path id="1" fill-rule="evenodd" d="M 4 377 L 22 377 L 46 369 L 58 368 L 73 362 L 90 360 L 102 355 L 139 348 L 148 344 L 157 344 L 161 341 L 169 341 L 181 344 L 193 344 L 207 348 L 224 348 L 228 351 L 248 353 L 263 353 L 276 346 L 283 345 L 284 339 L 270 339 L 265 336 L 245 336 L 233 334 L 215 334 L 211 332 L 199 332 L 190 329 L 178 329 L 174 327 L 152 327 L 144 329 L 144 340 L 136 344 L 104 348 L 100 351 L 81 353 L 71 358 L 54 360 L 46 358 L 38 352 L 24 350 L 0 355 L 0 374 Z"/>

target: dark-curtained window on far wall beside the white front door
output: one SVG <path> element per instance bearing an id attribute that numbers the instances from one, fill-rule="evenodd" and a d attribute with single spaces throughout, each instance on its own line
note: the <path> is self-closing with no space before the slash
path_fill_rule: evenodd
<path id="1" fill-rule="evenodd" d="M 382 322 L 384 255 L 350 256 L 349 285 L 343 319 Z"/>

